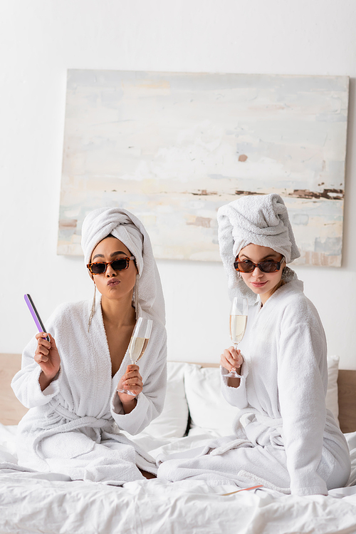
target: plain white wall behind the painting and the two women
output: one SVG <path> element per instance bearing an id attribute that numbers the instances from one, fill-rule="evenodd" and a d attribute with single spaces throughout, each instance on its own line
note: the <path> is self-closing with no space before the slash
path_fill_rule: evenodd
<path id="1" fill-rule="evenodd" d="M 353 0 L 11 0 L 0 5 L 0 352 L 91 297 L 80 258 L 56 255 L 67 68 L 347 75 L 351 81 L 340 269 L 298 275 L 331 354 L 356 369 L 356 3 Z M 169 359 L 218 361 L 229 342 L 220 264 L 159 261 Z"/>

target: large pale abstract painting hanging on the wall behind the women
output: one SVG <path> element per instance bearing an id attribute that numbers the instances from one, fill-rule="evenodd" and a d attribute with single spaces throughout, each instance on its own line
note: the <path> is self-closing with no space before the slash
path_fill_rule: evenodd
<path id="1" fill-rule="evenodd" d="M 68 71 L 58 253 L 96 207 L 132 211 L 155 256 L 219 261 L 216 211 L 278 192 L 305 265 L 341 265 L 346 76 Z"/>

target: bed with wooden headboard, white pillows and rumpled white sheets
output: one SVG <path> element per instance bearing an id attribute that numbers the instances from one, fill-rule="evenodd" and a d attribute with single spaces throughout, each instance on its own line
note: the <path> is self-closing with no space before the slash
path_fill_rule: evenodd
<path id="1" fill-rule="evenodd" d="M 356 533 L 356 371 L 338 370 L 336 357 L 328 361 L 327 403 L 347 438 L 352 472 L 346 488 L 308 497 L 202 481 L 118 488 L 23 473 L 16 468 L 16 425 L 26 409 L 10 388 L 20 364 L 19 355 L 0 355 L 0 534 Z M 234 409 L 222 399 L 217 366 L 169 362 L 168 379 L 164 411 L 137 443 L 157 456 L 229 433 Z"/>

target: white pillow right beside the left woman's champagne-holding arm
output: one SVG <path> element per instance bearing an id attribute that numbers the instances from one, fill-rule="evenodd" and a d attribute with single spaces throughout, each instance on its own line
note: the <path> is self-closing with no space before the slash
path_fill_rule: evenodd
<path id="1" fill-rule="evenodd" d="M 145 433 L 152 438 L 182 438 L 187 430 L 188 404 L 184 391 L 184 369 L 189 364 L 167 361 L 167 393 L 162 414 Z"/>

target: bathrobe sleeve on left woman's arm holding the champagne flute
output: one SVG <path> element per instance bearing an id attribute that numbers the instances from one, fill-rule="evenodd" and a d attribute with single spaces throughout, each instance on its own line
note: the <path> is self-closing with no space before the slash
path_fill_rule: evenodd
<path id="1" fill-rule="evenodd" d="M 143 389 L 137 396 L 135 408 L 130 414 L 125 414 L 116 391 L 112 396 L 112 417 L 121 430 L 132 436 L 141 432 L 159 416 L 164 404 L 167 386 L 167 334 L 162 325 L 158 324 L 152 329 L 150 345 L 150 351 L 146 351 L 140 360 Z"/>

